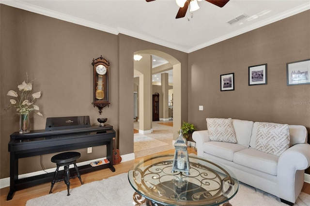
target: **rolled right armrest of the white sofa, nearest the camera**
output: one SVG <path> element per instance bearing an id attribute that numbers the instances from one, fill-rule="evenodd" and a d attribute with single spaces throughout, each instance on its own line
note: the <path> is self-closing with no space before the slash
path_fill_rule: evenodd
<path id="1" fill-rule="evenodd" d="M 304 170 L 310 166 L 310 145 L 295 144 L 285 150 L 278 161 L 279 198 L 293 202 L 298 197 L 303 183 Z M 287 188 L 294 188 L 293 192 Z"/>

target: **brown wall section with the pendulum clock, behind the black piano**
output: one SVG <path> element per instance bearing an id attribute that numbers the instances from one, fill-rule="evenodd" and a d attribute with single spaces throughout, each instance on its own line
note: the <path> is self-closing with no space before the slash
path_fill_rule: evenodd
<path id="1" fill-rule="evenodd" d="M 8 90 L 17 91 L 17 82 L 34 79 L 33 92 L 42 91 L 36 101 L 44 118 L 31 114 L 31 130 L 44 130 L 47 117 L 90 116 L 97 124 L 98 110 L 93 108 L 93 58 L 103 55 L 110 60 L 111 83 L 118 82 L 118 38 L 116 35 L 82 27 L 44 15 L 1 4 L 1 178 L 9 177 L 8 143 L 10 134 L 18 131 L 19 118 L 9 104 Z M 109 44 L 107 44 L 109 42 Z M 118 131 L 117 88 L 110 88 L 110 108 L 103 109 L 108 123 Z M 79 161 L 96 159 L 105 154 L 105 146 L 93 147 L 93 153 L 79 149 Z M 53 154 L 43 155 L 45 168 Z M 19 161 L 19 173 L 42 170 L 40 157 Z"/>

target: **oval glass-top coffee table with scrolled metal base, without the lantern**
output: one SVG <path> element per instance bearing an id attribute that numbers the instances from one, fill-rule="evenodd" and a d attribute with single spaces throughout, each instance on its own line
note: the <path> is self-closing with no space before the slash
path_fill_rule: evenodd
<path id="1" fill-rule="evenodd" d="M 237 178 L 223 166 L 190 155 L 190 175 L 171 173 L 173 154 L 148 156 L 128 171 L 136 206 L 214 206 L 237 193 Z M 225 205 L 224 204 L 224 205 Z"/>

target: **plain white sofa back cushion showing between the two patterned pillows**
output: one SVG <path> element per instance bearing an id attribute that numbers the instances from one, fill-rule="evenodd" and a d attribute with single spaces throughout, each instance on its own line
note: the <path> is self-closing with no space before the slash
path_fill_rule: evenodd
<path id="1" fill-rule="evenodd" d="M 254 122 L 240 119 L 232 119 L 232 122 L 238 144 L 249 147 Z"/>

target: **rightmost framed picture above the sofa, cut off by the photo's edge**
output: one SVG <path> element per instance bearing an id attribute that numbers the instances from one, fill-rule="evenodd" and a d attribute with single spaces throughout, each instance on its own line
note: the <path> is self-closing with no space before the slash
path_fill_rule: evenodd
<path id="1" fill-rule="evenodd" d="M 287 86 L 310 84 L 310 59 L 286 63 Z"/>

